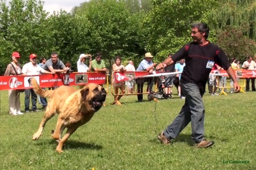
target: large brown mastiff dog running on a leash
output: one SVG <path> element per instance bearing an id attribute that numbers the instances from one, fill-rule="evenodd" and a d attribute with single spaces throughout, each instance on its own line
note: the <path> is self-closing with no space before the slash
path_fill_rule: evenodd
<path id="1" fill-rule="evenodd" d="M 94 113 L 101 109 L 106 99 L 106 91 L 100 85 L 87 84 L 83 89 L 75 90 L 70 86 L 60 86 L 55 90 L 44 90 L 38 85 L 35 78 L 31 78 L 35 93 L 41 97 L 50 97 L 45 115 L 33 135 L 33 140 L 39 139 L 47 121 L 58 113 L 58 121 L 55 131 L 51 135 L 58 141 L 56 151 L 62 152 L 63 144 L 69 139 L 75 130 L 86 122 L 89 122 Z M 66 134 L 61 138 L 63 130 Z"/>

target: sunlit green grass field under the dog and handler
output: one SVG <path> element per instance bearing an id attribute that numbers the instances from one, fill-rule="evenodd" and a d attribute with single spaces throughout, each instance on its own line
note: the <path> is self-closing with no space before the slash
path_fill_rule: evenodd
<path id="1" fill-rule="evenodd" d="M 192 147 L 190 124 L 170 146 L 156 138 L 178 115 L 184 99 L 174 95 L 155 103 L 144 96 L 145 102 L 137 103 L 136 96 L 125 96 L 122 106 L 113 106 L 109 93 L 107 106 L 71 135 L 63 154 L 55 151 L 57 142 L 50 137 L 57 117 L 33 141 L 43 111 L 9 115 L 7 91 L 0 94 L 0 169 L 256 169 L 255 92 L 203 97 L 205 136 L 215 142 L 207 149 Z M 225 163 L 230 160 L 249 163 Z"/>

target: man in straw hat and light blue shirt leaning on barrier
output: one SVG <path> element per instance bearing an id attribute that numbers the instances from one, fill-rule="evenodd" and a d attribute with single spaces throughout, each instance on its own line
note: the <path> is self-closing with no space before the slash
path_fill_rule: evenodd
<path id="1" fill-rule="evenodd" d="M 153 68 L 157 65 L 157 63 L 153 64 L 152 61 L 153 56 L 151 55 L 150 52 L 147 52 L 145 54 L 144 59 L 141 61 L 141 63 L 139 64 L 137 71 L 147 71 L 149 73 L 153 72 Z M 152 92 L 152 88 L 153 88 L 153 77 L 149 77 L 149 78 L 137 78 L 137 89 L 138 89 L 138 93 L 142 93 L 143 92 L 143 85 L 144 82 L 147 82 L 147 91 L 150 93 Z M 142 102 L 143 100 L 143 94 L 138 94 L 138 102 Z"/>

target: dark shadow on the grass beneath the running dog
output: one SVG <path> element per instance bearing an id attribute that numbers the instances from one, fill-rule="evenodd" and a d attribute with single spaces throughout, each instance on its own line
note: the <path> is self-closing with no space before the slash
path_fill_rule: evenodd
<path id="1" fill-rule="evenodd" d="M 38 142 L 36 144 L 39 146 L 42 146 L 46 143 Z M 55 140 L 50 140 L 48 142 L 48 144 L 56 147 L 58 142 L 56 142 Z M 102 150 L 102 146 L 97 145 L 95 143 L 84 143 L 84 142 L 78 142 L 78 141 L 73 141 L 73 140 L 67 140 L 67 142 L 64 144 L 63 148 L 73 148 L 73 149 L 83 148 L 86 150 Z"/>

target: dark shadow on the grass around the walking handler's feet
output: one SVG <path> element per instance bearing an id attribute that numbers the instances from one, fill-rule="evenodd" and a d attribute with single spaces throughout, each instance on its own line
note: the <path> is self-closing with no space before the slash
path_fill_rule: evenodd
<path id="1" fill-rule="evenodd" d="M 205 136 L 206 139 L 208 140 L 215 140 L 214 136 Z M 217 139 L 221 140 L 221 142 L 227 142 L 228 139 L 222 138 L 222 139 Z M 152 143 L 160 143 L 159 140 L 157 139 L 157 136 L 155 136 L 155 139 L 151 139 L 150 142 Z M 189 134 L 179 134 L 176 139 L 171 140 L 171 143 L 187 143 L 188 146 L 194 146 L 194 141 L 191 139 L 191 135 Z"/>

